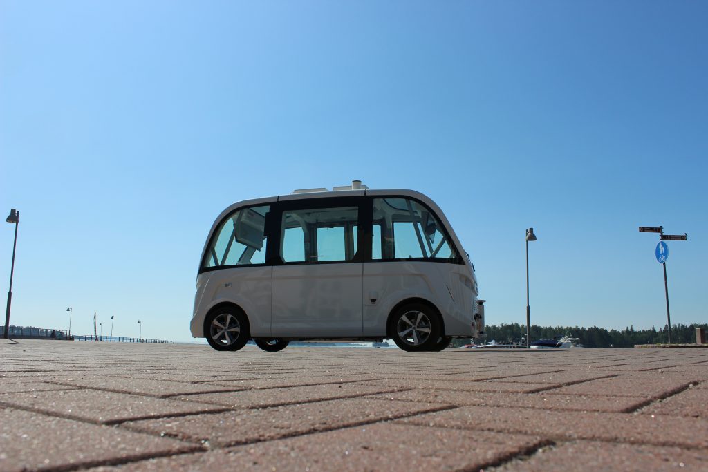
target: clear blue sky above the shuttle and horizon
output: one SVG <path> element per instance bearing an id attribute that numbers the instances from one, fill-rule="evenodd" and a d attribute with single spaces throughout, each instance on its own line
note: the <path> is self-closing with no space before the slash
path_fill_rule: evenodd
<path id="1" fill-rule="evenodd" d="M 224 207 L 358 178 L 438 202 L 488 323 L 525 323 L 533 226 L 534 323 L 663 326 L 637 231 L 659 224 L 689 234 L 671 319 L 704 323 L 707 20 L 702 1 L 1 0 L 11 321 L 67 328 L 73 306 L 76 334 L 96 311 L 190 340 Z"/>

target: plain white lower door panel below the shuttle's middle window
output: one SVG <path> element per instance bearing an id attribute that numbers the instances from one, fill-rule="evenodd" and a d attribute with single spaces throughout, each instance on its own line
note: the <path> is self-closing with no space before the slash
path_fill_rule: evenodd
<path id="1" fill-rule="evenodd" d="M 273 336 L 362 335 L 361 263 L 273 267 Z"/>

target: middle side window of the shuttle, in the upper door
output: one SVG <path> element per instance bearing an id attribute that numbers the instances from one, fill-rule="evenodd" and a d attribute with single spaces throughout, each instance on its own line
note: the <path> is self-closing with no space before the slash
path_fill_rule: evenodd
<path id="1" fill-rule="evenodd" d="M 358 218 L 358 207 L 285 211 L 280 257 L 286 263 L 353 260 Z"/>

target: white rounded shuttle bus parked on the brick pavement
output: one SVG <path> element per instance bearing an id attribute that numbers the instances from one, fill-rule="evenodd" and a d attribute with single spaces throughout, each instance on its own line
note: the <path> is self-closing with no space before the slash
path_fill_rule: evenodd
<path id="1" fill-rule="evenodd" d="M 438 205 L 413 190 L 351 186 L 246 200 L 202 251 L 191 331 L 216 350 L 253 339 L 393 339 L 440 351 L 484 334 L 474 266 Z"/>

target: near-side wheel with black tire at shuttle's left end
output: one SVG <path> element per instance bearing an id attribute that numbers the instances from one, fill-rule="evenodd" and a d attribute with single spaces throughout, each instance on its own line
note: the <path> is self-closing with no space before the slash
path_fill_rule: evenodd
<path id="1" fill-rule="evenodd" d="M 207 343 L 217 351 L 237 351 L 251 338 L 249 318 L 236 306 L 212 310 L 204 320 Z"/>

